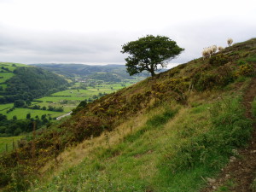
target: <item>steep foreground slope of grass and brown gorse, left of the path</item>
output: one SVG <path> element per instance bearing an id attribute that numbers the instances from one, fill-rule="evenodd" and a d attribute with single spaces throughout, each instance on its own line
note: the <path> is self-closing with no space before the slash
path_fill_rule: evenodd
<path id="1" fill-rule="evenodd" d="M 251 137 L 241 101 L 255 65 L 253 38 L 80 106 L 0 157 L 0 186 L 200 191 Z"/>

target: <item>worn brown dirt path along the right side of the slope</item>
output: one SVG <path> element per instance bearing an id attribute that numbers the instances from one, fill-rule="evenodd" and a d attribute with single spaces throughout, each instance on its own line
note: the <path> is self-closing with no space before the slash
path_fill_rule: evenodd
<path id="1" fill-rule="evenodd" d="M 253 119 L 252 113 L 252 102 L 253 98 L 256 96 L 256 78 L 252 80 L 249 84 L 245 95 L 243 97 L 242 104 L 246 108 L 246 116 L 249 119 Z M 219 186 L 223 186 L 228 180 L 233 181 L 234 186 L 230 187 L 229 191 L 237 192 L 250 192 L 250 185 L 253 179 L 256 177 L 256 122 L 254 119 L 253 123 L 253 135 L 252 140 L 247 148 L 242 148 L 238 151 L 239 158 L 230 159 L 228 166 L 224 167 L 223 172 L 221 172 L 216 179 L 208 179 L 211 182 L 208 184 L 207 188 L 202 189 L 201 192 L 209 192 L 218 189 Z"/>

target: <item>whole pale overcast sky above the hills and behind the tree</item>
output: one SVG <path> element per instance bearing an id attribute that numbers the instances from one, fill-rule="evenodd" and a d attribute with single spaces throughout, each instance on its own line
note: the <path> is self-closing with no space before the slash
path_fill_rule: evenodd
<path id="1" fill-rule="evenodd" d="M 212 44 L 256 38 L 255 0 L 0 0 L 0 61 L 125 64 L 121 45 L 167 36 L 201 56 Z"/>

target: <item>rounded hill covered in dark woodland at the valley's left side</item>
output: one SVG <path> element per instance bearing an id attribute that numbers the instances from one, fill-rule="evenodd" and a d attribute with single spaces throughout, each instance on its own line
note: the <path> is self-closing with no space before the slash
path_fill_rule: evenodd
<path id="1" fill-rule="evenodd" d="M 0 63 L 0 103 L 29 100 L 67 89 L 67 81 L 39 67 Z"/>

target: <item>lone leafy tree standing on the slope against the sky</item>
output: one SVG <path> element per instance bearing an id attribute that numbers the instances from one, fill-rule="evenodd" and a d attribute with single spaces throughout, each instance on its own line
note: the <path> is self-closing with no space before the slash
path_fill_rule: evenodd
<path id="1" fill-rule="evenodd" d="M 122 46 L 121 53 L 128 53 L 125 58 L 126 70 L 130 75 L 148 71 L 153 77 L 158 67 L 166 67 L 168 61 L 176 58 L 184 49 L 175 41 L 165 36 L 147 35 L 137 41 Z"/>

